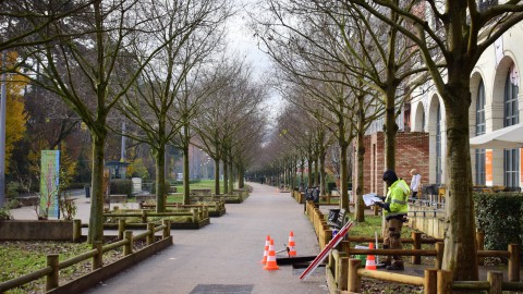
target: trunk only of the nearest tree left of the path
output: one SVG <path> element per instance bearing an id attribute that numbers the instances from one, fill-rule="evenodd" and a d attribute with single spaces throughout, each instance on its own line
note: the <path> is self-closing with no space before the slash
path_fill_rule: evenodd
<path id="1" fill-rule="evenodd" d="M 94 132 L 92 132 L 93 134 Z M 104 241 L 104 158 L 106 136 L 92 135 L 93 138 L 93 179 L 90 198 L 90 218 L 87 243 Z"/>

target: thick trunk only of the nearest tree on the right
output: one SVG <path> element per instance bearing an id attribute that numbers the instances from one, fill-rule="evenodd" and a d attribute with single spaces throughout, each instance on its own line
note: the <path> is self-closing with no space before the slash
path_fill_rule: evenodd
<path id="1" fill-rule="evenodd" d="M 469 107 L 471 94 L 469 76 L 452 82 L 446 90 L 447 158 L 445 253 L 442 268 L 452 270 L 454 280 L 477 281 L 478 269 L 475 243 L 475 212 L 472 197 L 472 170 L 469 143 Z M 465 103 L 463 101 L 469 101 Z M 465 146 L 465 148 L 463 148 Z"/>

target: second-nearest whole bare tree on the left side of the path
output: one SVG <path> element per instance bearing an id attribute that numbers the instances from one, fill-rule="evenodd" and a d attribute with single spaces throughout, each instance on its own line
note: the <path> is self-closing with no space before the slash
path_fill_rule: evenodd
<path id="1" fill-rule="evenodd" d="M 166 147 L 197 111 L 199 103 L 188 103 L 191 84 L 198 69 L 218 48 L 221 25 L 228 16 L 227 0 L 180 0 L 156 2 L 155 10 L 166 13 L 157 19 L 155 38 L 167 44 L 145 64 L 134 91 L 118 105 L 121 113 L 138 125 L 141 132 L 127 134 L 137 142 L 150 145 L 156 158 L 157 211 L 166 209 Z M 141 48 L 136 48 L 138 54 Z M 192 96 L 195 97 L 195 96 Z"/>

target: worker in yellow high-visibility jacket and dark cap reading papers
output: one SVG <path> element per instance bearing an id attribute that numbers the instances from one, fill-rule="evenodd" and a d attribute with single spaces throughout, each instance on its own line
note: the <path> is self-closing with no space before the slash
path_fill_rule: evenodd
<path id="1" fill-rule="evenodd" d="M 384 209 L 385 229 L 384 229 L 384 249 L 401 249 L 401 228 L 406 221 L 409 210 L 409 195 L 411 189 L 403 179 L 392 170 L 384 173 L 384 181 L 387 183 L 388 192 L 385 201 L 376 203 Z M 393 261 L 392 261 L 393 258 Z M 387 256 L 384 266 L 388 270 L 404 270 L 401 256 Z"/>

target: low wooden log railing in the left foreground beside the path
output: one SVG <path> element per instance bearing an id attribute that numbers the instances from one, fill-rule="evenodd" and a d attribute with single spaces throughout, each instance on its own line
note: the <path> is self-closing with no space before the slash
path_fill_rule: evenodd
<path id="1" fill-rule="evenodd" d="M 133 253 L 133 244 L 136 240 L 146 240 L 146 244 L 151 245 L 155 243 L 156 232 L 162 232 L 162 240 L 170 237 L 170 223 L 169 220 L 163 220 L 161 225 L 155 226 L 154 223 L 147 223 L 147 231 L 133 236 L 133 231 L 125 231 L 124 238 L 110 243 L 107 245 L 101 244 L 100 241 L 97 241 L 93 244 L 93 249 L 86 253 L 83 253 L 78 256 L 65 259 L 63 261 L 59 260 L 58 254 L 47 255 L 47 267 L 36 270 L 32 273 L 5 281 L 0 283 L 0 293 L 8 291 L 13 287 L 21 286 L 23 284 L 29 283 L 34 280 L 40 278 L 46 278 L 46 291 L 50 291 L 59 286 L 59 272 L 62 269 L 69 268 L 73 265 L 80 264 L 87 259 L 93 259 L 92 270 L 97 270 L 102 267 L 104 254 L 117 248 L 123 247 L 123 255 L 127 256 Z"/>

